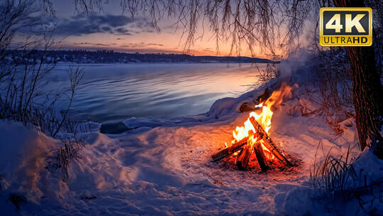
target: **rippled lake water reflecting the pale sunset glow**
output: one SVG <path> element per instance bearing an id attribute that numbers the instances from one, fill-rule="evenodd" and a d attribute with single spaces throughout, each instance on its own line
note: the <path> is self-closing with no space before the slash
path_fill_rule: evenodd
<path id="1" fill-rule="evenodd" d="M 85 74 L 71 113 L 103 124 L 130 117 L 204 113 L 216 99 L 233 97 L 233 92 L 248 90 L 248 85 L 257 82 L 257 69 L 250 64 L 112 64 L 82 68 Z M 65 69 L 67 65 L 59 65 L 51 83 L 65 84 Z"/>

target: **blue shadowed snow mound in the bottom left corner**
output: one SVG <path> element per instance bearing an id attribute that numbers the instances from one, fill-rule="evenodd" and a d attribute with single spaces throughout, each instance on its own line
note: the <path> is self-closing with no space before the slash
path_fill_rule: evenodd
<path id="1" fill-rule="evenodd" d="M 45 136 L 35 127 L 26 128 L 19 122 L 4 120 L 0 120 L 0 137 L 0 184 L 4 190 L 0 193 L 0 206 L 2 211 L 13 215 L 13 207 L 4 205 L 10 193 L 20 193 L 38 202 L 54 191 L 57 181 L 50 182 L 45 159 L 59 141 Z"/>

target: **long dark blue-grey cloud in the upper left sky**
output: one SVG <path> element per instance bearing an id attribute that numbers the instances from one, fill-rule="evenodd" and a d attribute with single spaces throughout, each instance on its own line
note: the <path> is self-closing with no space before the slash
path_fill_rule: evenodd
<path id="1" fill-rule="evenodd" d="M 131 31 L 129 28 L 140 31 Z M 152 31 L 152 23 L 144 18 L 130 18 L 113 15 L 76 15 L 60 21 L 55 33 L 61 36 L 82 36 L 91 33 L 111 33 L 115 35 L 131 35 L 131 32 Z"/>

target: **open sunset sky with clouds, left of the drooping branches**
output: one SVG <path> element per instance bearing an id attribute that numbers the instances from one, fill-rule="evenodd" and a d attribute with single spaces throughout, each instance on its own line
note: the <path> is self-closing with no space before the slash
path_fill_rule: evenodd
<path id="1" fill-rule="evenodd" d="M 149 16 L 133 19 L 130 13 L 122 15 L 119 1 L 109 1 L 104 11 L 88 16 L 76 13 L 73 1 L 52 2 L 57 16 L 56 36 L 66 37 L 62 43 L 65 49 L 108 49 L 126 53 L 182 53 L 184 50 L 183 28 L 176 28 L 172 18 L 160 21 L 161 30 L 157 32 Z M 203 31 L 200 25 L 195 38 L 202 32 L 204 36 L 194 43 L 190 54 L 216 55 L 216 42 L 209 28 L 205 26 Z M 229 43 L 221 43 L 219 55 L 229 53 Z M 244 47 L 241 55 L 250 56 L 250 52 Z"/>

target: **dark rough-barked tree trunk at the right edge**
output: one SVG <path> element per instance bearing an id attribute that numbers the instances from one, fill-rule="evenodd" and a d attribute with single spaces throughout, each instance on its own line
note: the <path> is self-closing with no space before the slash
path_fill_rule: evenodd
<path id="1" fill-rule="evenodd" d="M 363 0 L 333 0 L 338 7 L 364 7 Z M 373 43 L 379 43 L 374 41 Z M 382 84 L 375 62 L 373 46 L 348 47 L 353 72 L 353 104 L 360 148 L 373 141 L 375 153 L 383 158 L 383 140 L 380 135 L 383 116 Z"/>

